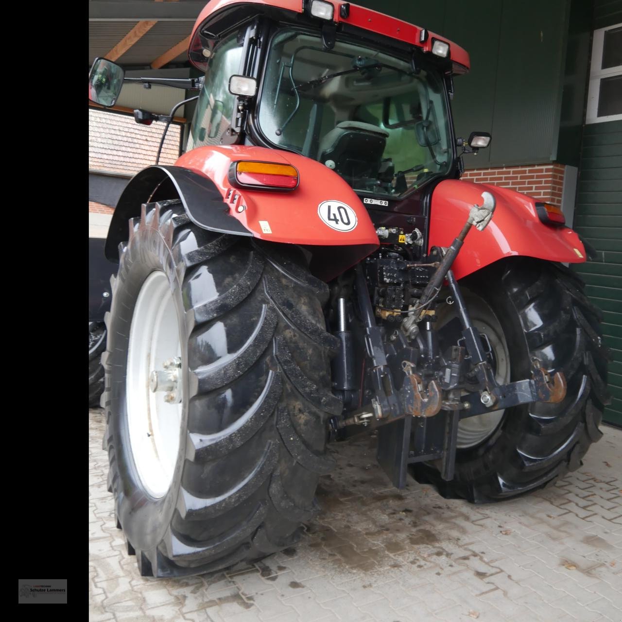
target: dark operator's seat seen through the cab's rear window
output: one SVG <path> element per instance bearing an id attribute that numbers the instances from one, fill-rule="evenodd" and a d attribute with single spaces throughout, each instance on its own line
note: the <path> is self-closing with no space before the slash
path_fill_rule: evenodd
<path id="1" fill-rule="evenodd" d="M 341 121 L 320 141 L 320 162 L 335 162 L 346 178 L 376 177 L 389 132 L 370 123 Z"/>

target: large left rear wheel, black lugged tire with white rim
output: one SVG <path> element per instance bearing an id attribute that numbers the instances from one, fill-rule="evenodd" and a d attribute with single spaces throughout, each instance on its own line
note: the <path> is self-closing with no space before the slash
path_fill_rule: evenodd
<path id="1" fill-rule="evenodd" d="M 289 246 L 142 206 L 119 246 L 104 354 L 109 489 L 141 574 L 253 562 L 317 511 L 337 340 Z"/>

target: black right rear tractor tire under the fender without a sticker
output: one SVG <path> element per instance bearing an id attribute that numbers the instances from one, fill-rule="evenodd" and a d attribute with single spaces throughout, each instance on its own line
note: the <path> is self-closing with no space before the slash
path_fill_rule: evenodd
<path id="1" fill-rule="evenodd" d="M 488 337 L 498 382 L 529 378 L 532 357 L 552 373 L 563 371 L 567 381 L 558 404 L 523 404 L 463 420 L 452 481 L 440 478 L 437 463 L 413 468 L 415 479 L 447 498 L 486 503 L 543 488 L 582 464 L 602 435 L 608 351 L 600 311 L 561 264 L 509 258 L 460 286 L 475 327 Z M 453 307 L 439 308 L 439 335 Z"/>

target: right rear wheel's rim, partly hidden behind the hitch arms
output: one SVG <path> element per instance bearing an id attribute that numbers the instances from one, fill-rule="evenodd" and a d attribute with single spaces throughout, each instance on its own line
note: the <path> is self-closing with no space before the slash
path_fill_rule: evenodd
<path id="1" fill-rule="evenodd" d="M 479 296 L 471 294 L 468 290 L 463 290 L 463 295 L 473 326 L 480 333 L 486 335 L 488 341 L 490 341 L 491 350 L 496 361 L 494 378 L 498 384 L 509 383 L 510 361 L 508 344 L 506 343 L 499 320 L 494 315 L 493 310 Z M 456 317 L 453 313 L 448 315 L 447 320 L 440 323 L 439 328 L 453 317 Z M 458 449 L 468 449 L 488 439 L 501 423 L 504 412 L 505 409 L 501 409 L 461 419 L 458 423 L 456 447 Z"/>

